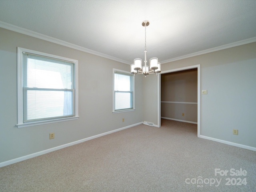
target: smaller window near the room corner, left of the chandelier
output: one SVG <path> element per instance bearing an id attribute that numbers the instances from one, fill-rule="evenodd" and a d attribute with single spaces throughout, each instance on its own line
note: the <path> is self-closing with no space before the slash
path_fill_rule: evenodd
<path id="1" fill-rule="evenodd" d="M 114 69 L 113 112 L 134 110 L 134 76 Z"/>

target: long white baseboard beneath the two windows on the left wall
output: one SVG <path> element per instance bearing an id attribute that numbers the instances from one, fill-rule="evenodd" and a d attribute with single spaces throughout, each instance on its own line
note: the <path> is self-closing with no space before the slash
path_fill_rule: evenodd
<path id="1" fill-rule="evenodd" d="M 130 127 L 133 127 L 133 126 L 136 126 L 136 125 L 140 125 L 142 123 L 143 122 L 132 124 L 132 125 L 129 125 L 129 126 L 126 126 L 126 127 L 122 127 L 122 128 L 116 129 L 116 130 L 112 130 L 112 131 L 108 131 L 108 132 L 101 133 L 101 134 L 98 134 L 98 135 L 94 135 L 94 136 L 84 138 L 84 139 L 81 139 L 81 140 L 78 140 L 78 141 L 74 141 L 74 142 L 71 142 L 71 143 L 67 143 L 67 144 L 64 144 L 64 145 L 61 145 L 61 146 L 57 146 L 57 147 L 54 147 L 54 148 L 50 148 L 50 149 L 47 149 L 47 150 L 39 151 L 39 152 L 36 152 L 36 153 L 33 153 L 33 154 L 29 154 L 29 155 L 26 155 L 26 156 L 22 156 L 22 157 L 19 157 L 19 158 L 8 160 L 8 161 L 0 163 L 0 167 L 4 167 L 4 166 L 14 164 L 14 163 L 17 163 L 17 162 L 20 162 L 20 161 L 24 161 L 24 160 L 27 160 L 27 159 L 30 159 L 30 158 L 33 158 L 33 157 L 36 157 L 36 156 L 40 156 L 40 155 L 43 155 L 43 154 L 46 154 L 46 153 L 50 153 L 52 151 L 56 151 L 56 150 L 59 150 L 59 149 L 65 148 L 65 147 L 69 147 L 69 146 L 72 146 L 72 145 L 75 145 L 75 144 L 78 144 L 78 143 L 82 143 L 82 142 L 85 142 L 85 141 L 88 141 L 88 140 L 91 140 L 91 139 L 94 139 L 94 138 L 97 138 L 97 137 L 101 137 L 101 136 L 111 134 L 111 133 L 114 133 L 114 132 L 117 132 L 117 131 L 120 131 L 120 130 L 124 130 L 124 129 L 130 128 Z"/>

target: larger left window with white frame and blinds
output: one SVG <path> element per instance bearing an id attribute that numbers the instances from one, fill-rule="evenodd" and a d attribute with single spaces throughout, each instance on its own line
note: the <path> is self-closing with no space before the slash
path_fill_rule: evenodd
<path id="1" fill-rule="evenodd" d="M 78 118 L 77 65 L 18 48 L 18 127 Z"/>

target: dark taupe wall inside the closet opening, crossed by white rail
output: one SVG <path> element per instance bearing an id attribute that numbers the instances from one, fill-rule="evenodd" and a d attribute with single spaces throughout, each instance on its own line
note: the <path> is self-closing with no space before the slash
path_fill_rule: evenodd
<path id="1" fill-rule="evenodd" d="M 196 123 L 197 104 L 191 103 L 197 103 L 197 69 L 161 74 L 161 117 Z"/>

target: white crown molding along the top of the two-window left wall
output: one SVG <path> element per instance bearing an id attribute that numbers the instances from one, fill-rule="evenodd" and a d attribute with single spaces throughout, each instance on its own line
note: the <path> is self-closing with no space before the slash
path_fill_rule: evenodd
<path id="1" fill-rule="evenodd" d="M 49 42 L 52 42 L 52 43 L 56 43 L 56 44 L 59 44 L 59 45 L 63 45 L 63 46 L 69 47 L 69 48 L 80 50 L 80 51 L 83 51 L 83 52 L 86 52 L 86 53 L 90 53 L 90 54 L 94 54 L 94 55 L 97 55 L 97 56 L 100 56 L 100 57 L 104 57 L 104 58 L 107 58 L 107 59 L 118 61 L 118 62 L 121 62 L 121 63 L 124 63 L 124 64 L 131 64 L 128 61 L 125 61 L 125 60 L 122 60 L 122 59 L 119 59 L 119 58 L 116 58 L 116 57 L 112 57 L 112 56 L 109 56 L 109 55 L 106 55 L 106 54 L 103 54 L 103 53 L 100 53 L 100 52 L 96 52 L 94 50 L 84 48 L 82 46 L 78 46 L 76 44 L 72 44 L 72 43 L 69 43 L 69 42 L 66 42 L 66 41 L 63 41 L 63 40 L 59 40 L 57 38 L 53 38 L 53 37 L 50 37 L 50 36 L 47 36 L 47 35 L 44 35 L 44 34 L 41 34 L 41 33 L 38 33 L 38 32 L 34 32 L 32 30 L 28 30 L 28 29 L 18 27 L 18 26 L 12 25 L 12 24 L 8 24 L 6 22 L 0 21 L 0 27 L 11 30 L 11 31 L 15 31 L 15 32 L 18 32 L 18 33 L 21 33 L 21 34 L 25 34 L 25 35 L 28 35 L 28 36 L 32 36 L 32 37 L 35 37 L 35 38 L 39 38 L 39 39 L 42 39 L 42 40 L 46 40 L 46 41 L 49 41 Z"/>

